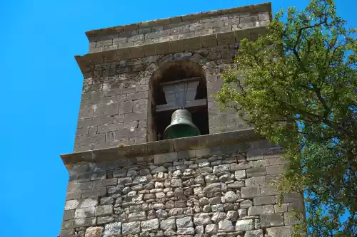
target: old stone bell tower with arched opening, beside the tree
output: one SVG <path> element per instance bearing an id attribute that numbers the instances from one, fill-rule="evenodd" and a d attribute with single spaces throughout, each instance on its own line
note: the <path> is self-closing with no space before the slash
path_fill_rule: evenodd
<path id="1" fill-rule="evenodd" d="M 59 236 L 291 236 L 303 202 L 288 194 L 277 204 L 281 149 L 211 96 L 239 41 L 270 20 L 268 3 L 86 32 Z M 175 91 L 200 136 L 164 139 Z"/>

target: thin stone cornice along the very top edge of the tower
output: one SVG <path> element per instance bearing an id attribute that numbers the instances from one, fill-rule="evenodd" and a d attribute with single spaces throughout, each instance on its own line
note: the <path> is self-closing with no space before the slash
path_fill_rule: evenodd
<path id="1" fill-rule="evenodd" d="M 204 19 L 209 16 L 220 16 L 225 14 L 236 14 L 243 12 L 256 13 L 261 11 L 268 11 L 271 14 L 271 2 L 256 4 L 256 5 L 248 5 L 248 6 L 238 6 L 231 9 L 221 9 L 215 11 L 206 11 L 200 12 L 196 14 L 188 14 L 184 16 L 174 16 L 166 19 L 157 19 L 154 21 L 141 21 L 139 23 L 131 23 L 124 26 L 114 26 L 109 28 L 101 28 L 92 31 L 86 31 L 87 38 L 107 35 L 112 33 L 121 33 L 124 31 L 135 31 L 141 28 L 148 28 L 153 26 L 163 26 L 169 23 L 179 23 L 182 21 L 192 21 Z"/>

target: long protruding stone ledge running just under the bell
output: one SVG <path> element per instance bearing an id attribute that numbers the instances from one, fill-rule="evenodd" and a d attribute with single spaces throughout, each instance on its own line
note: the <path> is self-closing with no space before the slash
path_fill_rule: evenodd
<path id="1" fill-rule="evenodd" d="M 221 152 L 245 149 L 248 142 L 263 139 L 253 129 L 222 132 L 197 137 L 167 139 L 158 142 L 134 144 L 126 147 L 96 149 L 88 152 L 61 154 L 68 168 L 79 162 L 106 162 L 120 159 L 154 159 L 156 164 L 164 164 L 180 157 L 204 156 Z"/>

